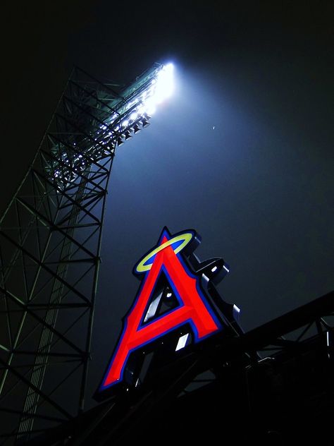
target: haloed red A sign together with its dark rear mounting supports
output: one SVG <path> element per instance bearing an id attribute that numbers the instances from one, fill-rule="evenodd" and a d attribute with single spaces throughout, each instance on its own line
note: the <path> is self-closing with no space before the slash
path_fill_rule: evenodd
<path id="1" fill-rule="evenodd" d="M 225 276 L 228 266 L 221 258 L 200 263 L 193 253 L 199 242 L 193 230 L 171 236 L 165 227 L 157 245 L 135 265 L 133 272 L 142 277 L 142 284 L 123 321 L 97 398 L 120 383 L 136 386 L 140 373 L 134 373 L 131 356 L 153 349 L 156 342 L 163 344 L 168 334 L 175 334 L 173 351 L 177 354 L 191 341 L 200 342 L 226 326 L 208 283 Z"/>

